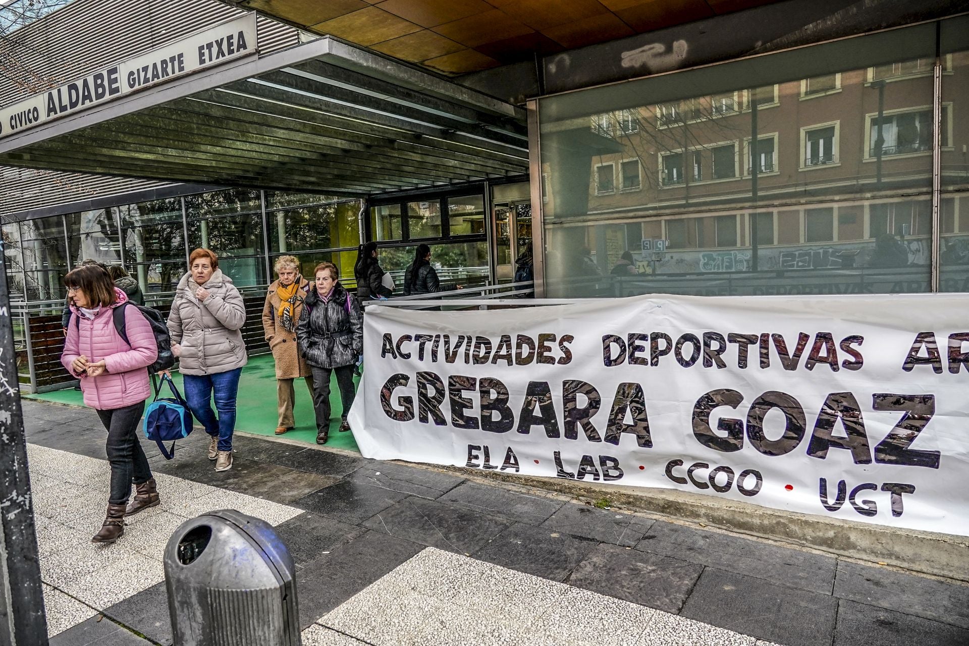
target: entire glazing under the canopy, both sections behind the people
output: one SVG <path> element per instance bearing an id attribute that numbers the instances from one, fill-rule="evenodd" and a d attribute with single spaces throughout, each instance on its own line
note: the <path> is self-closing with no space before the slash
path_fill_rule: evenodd
<path id="1" fill-rule="evenodd" d="M 149 298 L 164 299 L 197 247 L 215 251 L 239 288 L 271 283 L 273 263 L 289 255 L 309 278 L 319 262 L 333 262 L 344 284 L 355 287 L 361 224 L 370 227 L 368 239 L 383 242 L 381 262 L 398 292 L 420 242 L 430 245 L 445 287 L 487 282 L 484 188 L 378 204 L 369 223 L 361 222 L 359 207 L 359 200 L 225 189 L 8 223 L 12 300 L 59 306 L 64 275 L 86 259 L 124 265 Z"/>

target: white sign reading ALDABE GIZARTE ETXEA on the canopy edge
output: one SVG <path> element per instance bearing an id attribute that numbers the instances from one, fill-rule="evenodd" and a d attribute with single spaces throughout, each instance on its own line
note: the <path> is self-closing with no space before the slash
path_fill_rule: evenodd
<path id="1" fill-rule="evenodd" d="M 243 15 L 0 109 L 0 138 L 254 53 L 256 15 Z"/>

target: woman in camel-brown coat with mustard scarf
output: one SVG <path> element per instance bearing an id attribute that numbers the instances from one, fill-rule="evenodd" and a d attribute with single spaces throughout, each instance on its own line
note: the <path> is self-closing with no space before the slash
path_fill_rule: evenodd
<path id="1" fill-rule="evenodd" d="M 280 256 L 276 259 L 275 269 L 279 279 L 269 286 L 266 294 L 263 329 L 272 358 L 276 361 L 276 399 L 279 407 L 276 435 L 282 435 L 296 425 L 293 419 L 293 403 L 296 400 L 293 380 L 305 378 L 310 397 L 313 396 L 312 373 L 297 350 L 297 323 L 310 284 L 299 275 L 299 261 L 295 256 Z"/>

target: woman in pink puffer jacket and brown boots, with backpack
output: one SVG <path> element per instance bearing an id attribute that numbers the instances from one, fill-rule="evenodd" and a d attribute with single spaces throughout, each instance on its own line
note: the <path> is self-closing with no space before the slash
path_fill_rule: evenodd
<path id="1" fill-rule="evenodd" d="M 137 436 L 144 400 L 151 394 L 147 366 L 158 357 L 158 346 L 151 325 L 135 306 L 124 309 L 131 345 L 118 334 L 112 311 L 124 307 L 128 296 L 114 287 L 102 267 L 78 267 L 64 277 L 64 284 L 72 315 L 61 363 L 80 380 L 84 403 L 98 412 L 108 429 L 108 516 L 91 541 L 114 542 L 124 534 L 125 514 L 158 505 L 155 478 Z M 137 493 L 128 505 L 132 481 Z"/>

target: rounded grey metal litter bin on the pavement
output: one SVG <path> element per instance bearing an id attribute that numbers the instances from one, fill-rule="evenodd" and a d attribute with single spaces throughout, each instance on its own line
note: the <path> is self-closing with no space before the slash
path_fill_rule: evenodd
<path id="1" fill-rule="evenodd" d="M 175 646 L 299 646 L 296 566 L 275 530 L 233 509 L 182 523 L 165 547 Z"/>

